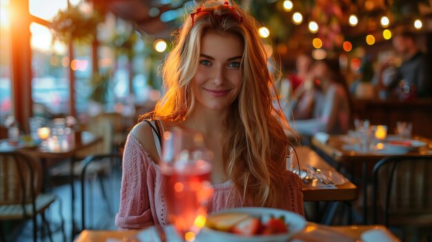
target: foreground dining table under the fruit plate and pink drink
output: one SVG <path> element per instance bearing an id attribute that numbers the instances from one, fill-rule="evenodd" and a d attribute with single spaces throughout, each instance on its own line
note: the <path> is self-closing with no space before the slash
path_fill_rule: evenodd
<path id="1" fill-rule="evenodd" d="M 123 241 L 123 242 L 142 242 L 142 241 L 162 241 L 157 237 L 155 227 L 146 228 L 145 230 L 127 230 L 127 231 L 117 231 L 117 230 L 83 230 L 75 242 L 105 242 L 105 241 Z M 177 236 L 173 235 L 172 226 L 164 226 L 166 231 L 166 241 L 167 242 L 179 242 Z M 154 236 L 149 236 L 152 234 Z M 304 230 L 294 234 L 289 241 L 291 242 L 304 242 L 304 241 L 339 241 L 339 242 L 356 242 L 356 241 L 376 241 L 377 235 L 368 236 L 371 238 L 366 238 L 366 232 L 369 234 L 375 233 L 378 236 L 385 236 L 387 241 L 400 242 L 399 239 L 389 231 L 383 225 L 338 225 L 338 226 L 327 226 L 317 223 L 307 223 Z M 372 232 L 372 233 L 371 233 Z M 196 242 L 203 241 L 202 238 L 197 236 Z M 337 240 L 335 240 L 337 239 Z M 363 239 L 363 240 L 361 240 Z M 287 241 L 288 242 L 288 241 Z"/>

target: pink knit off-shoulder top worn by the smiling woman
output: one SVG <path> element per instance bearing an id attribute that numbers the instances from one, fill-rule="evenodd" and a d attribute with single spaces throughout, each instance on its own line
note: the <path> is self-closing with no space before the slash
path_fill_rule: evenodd
<path id="1" fill-rule="evenodd" d="M 292 172 L 286 172 L 286 208 L 304 215 L 302 182 Z M 121 199 L 115 225 L 119 230 L 146 228 L 150 225 L 166 225 L 168 214 L 164 197 L 162 174 L 148 152 L 139 141 L 128 135 L 123 156 Z M 230 181 L 213 185 L 213 196 L 208 203 L 208 212 L 228 208 L 226 203 Z M 241 207 L 242 199 L 235 199 L 234 206 Z"/>

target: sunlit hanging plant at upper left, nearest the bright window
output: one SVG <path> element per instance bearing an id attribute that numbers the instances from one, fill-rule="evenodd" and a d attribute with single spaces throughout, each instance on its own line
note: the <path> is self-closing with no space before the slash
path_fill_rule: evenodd
<path id="1" fill-rule="evenodd" d="M 90 42 L 95 37 L 97 25 L 102 21 L 101 16 L 94 12 L 86 16 L 78 7 L 70 6 L 64 11 L 59 11 L 54 17 L 50 28 L 52 29 L 52 41 L 70 43 L 70 41 Z"/>

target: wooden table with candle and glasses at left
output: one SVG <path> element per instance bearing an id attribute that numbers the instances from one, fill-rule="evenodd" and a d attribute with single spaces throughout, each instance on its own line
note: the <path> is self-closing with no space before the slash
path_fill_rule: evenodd
<path id="1" fill-rule="evenodd" d="M 7 152 L 16 150 L 22 154 L 26 154 L 32 157 L 37 157 L 40 159 L 42 163 L 43 170 L 43 179 L 44 185 L 47 183 L 48 179 L 48 168 L 47 168 L 47 159 L 68 159 L 70 163 L 70 192 L 71 192 L 71 218 L 72 218 L 72 233 L 71 236 L 73 238 L 75 231 L 75 221 L 74 221 L 74 213 L 75 213 L 75 188 L 73 185 L 74 182 L 74 165 L 77 158 L 78 152 L 81 152 L 87 148 L 92 148 L 94 145 L 98 145 L 103 141 L 102 137 L 98 137 L 91 132 L 76 132 L 73 134 L 74 137 L 72 139 L 66 139 L 66 143 L 61 145 L 59 148 L 24 148 L 24 147 L 14 147 L 8 145 L 0 145 L 0 152 Z M 5 141 L 1 141 L 2 143 Z M 84 158 L 84 157 L 78 157 Z"/>

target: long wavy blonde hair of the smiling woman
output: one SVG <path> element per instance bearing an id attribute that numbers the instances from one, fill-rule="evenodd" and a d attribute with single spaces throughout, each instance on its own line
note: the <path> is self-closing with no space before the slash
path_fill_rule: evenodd
<path id="1" fill-rule="evenodd" d="M 224 170 L 233 181 L 232 194 L 241 196 L 244 205 L 280 208 L 285 203 L 282 172 L 289 145 L 284 130 L 289 127 L 282 112 L 273 107 L 275 79 L 267 68 L 266 52 L 257 34 L 259 25 L 235 3 L 204 1 L 193 12 L 194 21 L 188 14 L 175 32 L 173 50 L 164 62 L 164 97 L 145 117 L 170 123 L 184 121 L 195 106 L 190 82 L 197 71 L 203 33 L 217 30 L 237 35 L 244 42 L 243 82 L 226 117 L 230 125 L 224 130 Z"/>

